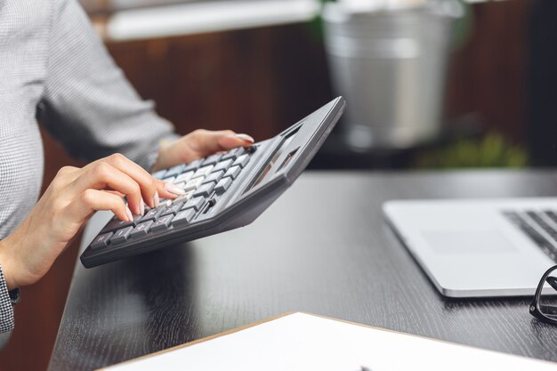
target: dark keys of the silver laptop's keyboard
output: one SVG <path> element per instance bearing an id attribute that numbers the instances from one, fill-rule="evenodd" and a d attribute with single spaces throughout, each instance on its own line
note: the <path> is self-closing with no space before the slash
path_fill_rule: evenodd
<path id="1" fill-rule="evenodd" d="M 505 211 L 503 214 L 557 262 L 557 211 Z"/>

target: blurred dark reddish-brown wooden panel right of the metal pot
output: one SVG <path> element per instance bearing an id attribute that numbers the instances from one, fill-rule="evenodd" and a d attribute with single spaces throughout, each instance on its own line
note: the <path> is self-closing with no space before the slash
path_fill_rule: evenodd
<path id="1" fill-rule="evenodd" d="M 531 0 L 509 0 L 472 7 L 472 36 L 448 73 L 448 117 L 476 112 L 489 129 L 525 142 L 530 6 Z"/>

